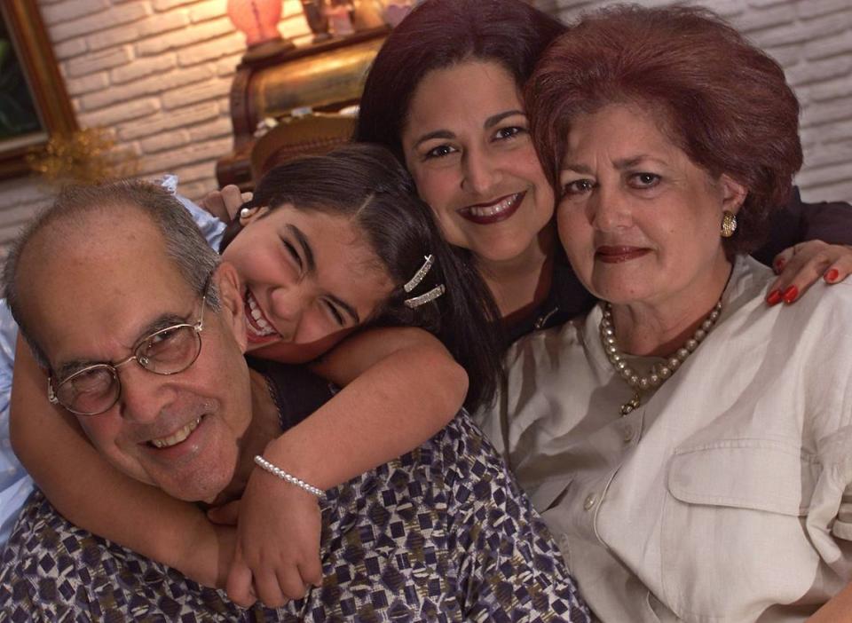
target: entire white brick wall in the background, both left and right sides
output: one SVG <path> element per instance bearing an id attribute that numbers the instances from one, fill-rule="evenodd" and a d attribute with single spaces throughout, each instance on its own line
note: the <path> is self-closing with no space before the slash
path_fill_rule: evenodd
<path id="1" fill-rule="evenodd" d="M 644 0 L 645 4 L 662 4 Z M 141 172 L 171 171 L 200 198 L 231 150 L 227 93 L 244 51 L 225 0 L 37 0 L 83 127 L 105 126 L 139 154 Z M 541 0 L 565 20 L 600 0 Z M 803 104 L 806 199 L 852 201 L 852 0 L 705 0 L 785 66 Z M 299 0 L 280 30 L 305 43 Z M 31 179 L 0 182 L 0 247 L 43 205 Z"/>

